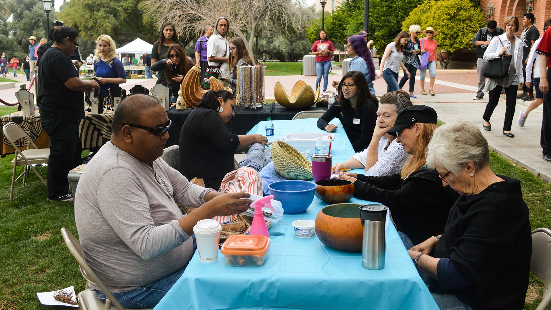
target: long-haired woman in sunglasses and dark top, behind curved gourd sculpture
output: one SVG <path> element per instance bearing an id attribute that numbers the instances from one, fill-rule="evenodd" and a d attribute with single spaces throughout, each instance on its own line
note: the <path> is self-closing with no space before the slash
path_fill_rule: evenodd
<path id="1" fill-rule="evenodd" d="M 160 84 L 169 88 L 171 103 L 178 99 L 178 91 L 182 85 L 183 77 L 193 66 L 195 66 L 195 63 L 190 57 L 186 56 L 180 44 L 172 44 L 166 52 L 166 58 L 151 65 L 151 70 L 163 72 L 164 78 L 159 79 Z"/>

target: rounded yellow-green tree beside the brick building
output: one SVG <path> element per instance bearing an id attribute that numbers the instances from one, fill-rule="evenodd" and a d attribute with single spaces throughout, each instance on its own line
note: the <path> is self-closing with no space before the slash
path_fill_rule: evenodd
<path id="1" fill-rule="evenodd" d="M 433 26 L 439 32 L 434 39 L 438 43 L 440 63 L 446 69 L 452 52 L 472 47 L 473 35 L 484 26 L 485 20 L 480 7 L 469 0 L 429 0 L 412 10 L 402 29 L 407 30 L 413 24 L 419 24 L 422 29 Z M 446 59 L 442 51 L 450 52 L 450 57 Z"/>

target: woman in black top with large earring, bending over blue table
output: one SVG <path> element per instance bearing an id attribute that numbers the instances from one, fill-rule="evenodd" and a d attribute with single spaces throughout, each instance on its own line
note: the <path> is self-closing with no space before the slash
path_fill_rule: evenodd
<path id="1" fill-rule="evenodd" d="M 209 90 L 191 111 L 180 135 L 179 170 L 188 180 L 203 179 L 218 190 L 224 175 L 234 170 L 234 154 L 253 143 L 267 143 L 262 135 L 235 135 L 226 122 L 235 115 L 235 97 L 228 90 Z"/>

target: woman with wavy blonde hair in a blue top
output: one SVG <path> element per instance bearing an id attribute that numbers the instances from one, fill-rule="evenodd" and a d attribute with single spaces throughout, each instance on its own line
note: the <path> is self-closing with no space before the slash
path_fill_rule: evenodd
<path id="1" fill-rule="evenodd" d="M 102 34 L 96 40 L 94 54 L 98 58 L 94 61 L 94 74 L 104 95 L 108 95 L 111 86 L 126 83 L 125 66 L 116 57 L 116 49 L 115 41 L 109 35 Z"/>

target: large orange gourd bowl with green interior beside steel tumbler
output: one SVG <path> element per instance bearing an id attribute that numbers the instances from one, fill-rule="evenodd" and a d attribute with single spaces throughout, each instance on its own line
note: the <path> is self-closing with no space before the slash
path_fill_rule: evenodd
<path id="1" fill-rule="evenodd" d="M 329 248 L 361 252 L 364 228 L 362 204 L 335 204 L 323 207 L 316 217 L 316 236 Z"/>

